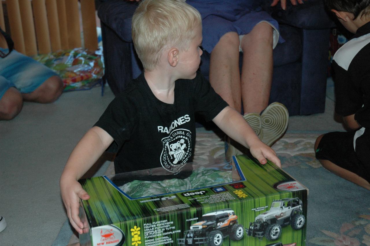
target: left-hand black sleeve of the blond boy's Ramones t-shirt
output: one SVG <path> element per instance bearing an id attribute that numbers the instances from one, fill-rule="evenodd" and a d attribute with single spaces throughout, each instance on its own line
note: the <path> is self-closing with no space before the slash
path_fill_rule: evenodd
<path id="1" fill-rule="evenodd" d="M 94 126 L 104 129 L 114 139 L 107 149 L 108 152 L 117 152 L 130 138 L 136 120 L 134 112 L 134 105 L 126 95 L 120 94 L 114 98 L 95 123 Z"/>

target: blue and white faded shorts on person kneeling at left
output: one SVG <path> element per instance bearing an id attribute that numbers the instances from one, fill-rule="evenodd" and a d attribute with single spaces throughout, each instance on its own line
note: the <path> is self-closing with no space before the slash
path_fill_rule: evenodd
<path id="1" fill-rule="evenodd" d="M 1 51 L 7 53 L 6 49 Z M 7 57 L 0 58 L 0 99 L 10 87 L 30 93 L 56 75 L 45 65 L 13 50 Z"/>

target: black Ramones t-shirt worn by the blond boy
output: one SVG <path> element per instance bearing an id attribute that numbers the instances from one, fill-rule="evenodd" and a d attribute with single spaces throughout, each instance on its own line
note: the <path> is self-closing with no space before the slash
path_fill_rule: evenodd
<path id="1" fill-rule="evenodd" d="M 211 121 L 227 105 L 199 72 L 193 80 L 175 81 L 174 104 L 158 100 L 142 73 L 95 126 L 114 139 L 107 151 L 117 152 L 116 173 L 161 166 L 177 173 L 194 156 L 195 113 Z"/>

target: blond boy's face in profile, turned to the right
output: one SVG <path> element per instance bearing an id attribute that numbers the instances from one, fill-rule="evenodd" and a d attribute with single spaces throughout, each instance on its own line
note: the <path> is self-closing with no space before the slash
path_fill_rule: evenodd
<path id="1" fill-rule="evenodd" d="M 199 26 L 196 30 L 194 39 L 190 42 L 187 51 L 179 52 L 179 73 L 182 79 L 193 79 L 196 76 L 196 71 L 201 63 L 201 55 L 203 51 L 200 48 L 202 44 L 202 27 Z"/>

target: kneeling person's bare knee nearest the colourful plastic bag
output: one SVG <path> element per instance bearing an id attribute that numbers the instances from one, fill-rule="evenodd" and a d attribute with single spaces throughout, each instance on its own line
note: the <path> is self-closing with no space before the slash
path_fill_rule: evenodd
<path id="1" fill-rule="evenodd" d="M 40 102 L 54 102 L 63 92 L 63 81 L 58 76 L 50 77 L 40 86 L 40 89 Z"/>

